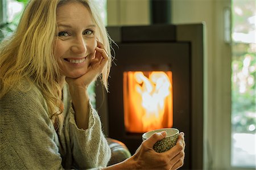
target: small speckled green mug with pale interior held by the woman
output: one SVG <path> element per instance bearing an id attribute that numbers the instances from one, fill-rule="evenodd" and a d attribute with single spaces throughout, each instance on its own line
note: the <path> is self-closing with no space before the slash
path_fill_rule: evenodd
<path id="1" fill-rule="evenodd" d="M 142 135 L 142 141 L 144 141 L 147 138 L 151 137 L 152 134 L 161 131 L 166 131 L 166 137 L 156 142 L 155 145 L 153 146 L 153 149 L 159 153 L 166 152 L 176 145 L 177 139 L 179 137 L 179 130 L 175 128 L 163 128 L 148 131 Z"/>

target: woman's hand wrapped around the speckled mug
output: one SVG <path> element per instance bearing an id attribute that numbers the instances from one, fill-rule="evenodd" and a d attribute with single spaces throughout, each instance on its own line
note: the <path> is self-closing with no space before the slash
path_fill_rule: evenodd
<path id="1" fill-rule="evenodd" d="M 177 169 L 184 163 L 184 133 L 181 132 L 176 145 L 170 150 L 158 153 L 153 150 L 157 141 L 166 137 L 166 132 L 155 133 L 150 138 L 142 142 L 136 154 L 132 157 L 138 169 Z"/>

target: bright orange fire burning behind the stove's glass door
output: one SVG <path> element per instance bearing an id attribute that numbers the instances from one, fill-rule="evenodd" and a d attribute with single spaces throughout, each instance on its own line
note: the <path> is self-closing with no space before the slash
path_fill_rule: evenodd
<path id="1" fill-rule="evenodd" d="M 124 73 L 126 130 L 132 133 L 172 126 L 171 71 Z"/>

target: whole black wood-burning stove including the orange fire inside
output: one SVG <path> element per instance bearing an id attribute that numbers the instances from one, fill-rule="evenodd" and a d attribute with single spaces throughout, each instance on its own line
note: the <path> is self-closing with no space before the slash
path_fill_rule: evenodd
<path id="1" fill-rule="evenodd" d="M 108 27 L 115 51 L 109 93 L 97 109 L 106 135 L 133 154 L 142 133 L 185 133 L 181 169 L 203 169 L 203 24 Z"/>

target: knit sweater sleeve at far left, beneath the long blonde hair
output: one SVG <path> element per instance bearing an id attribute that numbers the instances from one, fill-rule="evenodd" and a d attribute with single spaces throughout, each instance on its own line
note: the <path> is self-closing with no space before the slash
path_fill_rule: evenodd
<path id="1" fill-rule="evenodd" d="M 63 169 L 43 101 L 31 90 L 0 99 L 0 169 Z"/>

